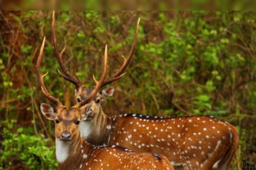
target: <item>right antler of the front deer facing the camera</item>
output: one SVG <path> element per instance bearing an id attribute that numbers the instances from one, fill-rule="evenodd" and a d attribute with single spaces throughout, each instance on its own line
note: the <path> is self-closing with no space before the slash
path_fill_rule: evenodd
<path id="1" fill-rule="evenodd" d="M 96 83 L 96 86 L 94 87 L 93 92 L 91 92 L 90 96 L 86 100 L 81 101 L 80 103 L 77 103 L 76 106 L 74 106 L 74 107 L 79 108 L 79 107 L 84 106 L 87 103 L 90 103 L 90 101 L 93 100 L 93 98 L 96 96 L 96 94 L 98 94 L 99 89 L 101 89 L 106 75 L 107 75 L 107 45 L 105 46 L 104 68 L 103 68 L 103 73 L 101 75 L 101 79 L 98 81 L 98 80 L 96 80 L 96 78 L 93 75 L 93 81 Z"/>

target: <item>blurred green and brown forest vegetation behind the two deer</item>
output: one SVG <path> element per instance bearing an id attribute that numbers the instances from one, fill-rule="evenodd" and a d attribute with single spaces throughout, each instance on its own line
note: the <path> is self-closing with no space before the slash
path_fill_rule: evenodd
<path id="1" fill-rule="evenodd" d="M 58 73 L 51 36 L 52 12 L 0 12 L 0 169 L 57 169 L 54 123 L 40 113 L 41 72 L 57 98 L 74 104 L 74 86 Z M 213 115 L 238 129 L 232 169 L 256 163 L 255 12 L 56 12 L 55 30 L 66 67 L 92 87 L 108 45 L 109 77 L 123 63 L 141 18 L 137 46 L 108 115 Z M 50 104 L 50 103 L 49 103 Z"/>

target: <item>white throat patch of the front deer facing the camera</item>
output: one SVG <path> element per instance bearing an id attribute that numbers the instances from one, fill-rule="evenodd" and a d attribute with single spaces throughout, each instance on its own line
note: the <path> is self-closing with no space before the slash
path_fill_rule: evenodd
<path id="1" fill-rule="evenodd" d="M 64 143 L 63 141 L 59 140 L 58 138 L 55 138 L 55 144 L 56 144 L 56 157 L 57 161 L 59 163 L 63 163 L 63 161 L 68 158 L 69 154 L 69 143 Z"/>

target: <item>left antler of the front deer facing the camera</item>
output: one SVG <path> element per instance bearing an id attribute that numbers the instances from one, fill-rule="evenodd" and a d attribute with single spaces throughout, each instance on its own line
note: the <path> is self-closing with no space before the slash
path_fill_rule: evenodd
<path id="1" fill-rule="evenodd" d="M 37 78 L 38 78 L 38 81 L 39 81 L 39 84 L 41 86 L 41 89 L 43 90 L 43 94 L 50 100 L 52 101 L 52 103 L 56 104 L 58 107 L 61 107 L 63 106 L 63 104 L 57 100 L 57 98 L 53 97 L 52 95 L 49 94 L 49 92 L 46 90 L 45 86 L 44 86 L 44 83 L 43 83 L 43 78 L 46 77 L 46 75 L 48 74 L 45 73 L 44 75 L 41 75 L 41 72 L 40 72 L 40 65 L 41 65 L 41 60 L 43 58 L 43 49 L 44 49 L 44 43 L 45 43 L 45 36 L 43 38 L 43 42 L 41 44 L 41 48 L 40 48 L 40 53 L 39 53 L 39 56 L 38 56 L 38 59 L 37 59 Z"/>

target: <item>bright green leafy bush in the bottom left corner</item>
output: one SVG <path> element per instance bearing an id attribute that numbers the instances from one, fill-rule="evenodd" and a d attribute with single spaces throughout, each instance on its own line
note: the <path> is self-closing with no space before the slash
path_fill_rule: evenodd
<path id="1" fill-rule="evenodd" d="M 13 128 L 16 120 L 10 121 Z M 2 137 L 3 149 L 0 150 L 0 169 L 10 169 L 21 163 L 29 169 L 57 169 L 54 146 L 47 146 L 49 139 L 43 136 L 28 134 L 26 129 L 19 127 L 16 132 L 4 128 Z"/>

